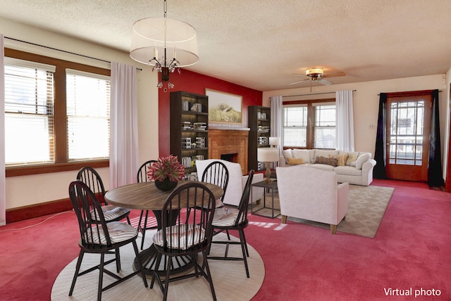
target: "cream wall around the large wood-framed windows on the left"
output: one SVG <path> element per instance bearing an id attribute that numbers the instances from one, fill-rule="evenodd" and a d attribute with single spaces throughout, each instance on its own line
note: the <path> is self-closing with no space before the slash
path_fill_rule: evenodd
<path id="1" fill-rule="evenodd" d="M 152 72 L 152 68 L 136 63 L 130 59 L 128 53 L 109 49 L 88 41 L 73 39 L 54 32 L 39 30 L 8 19 L 0 18 L 0 29 L 5 37 L 20 39 L 101 60 L 114 60 L 141 68 L 142 71 L 137 71 L 140 162 L 158 157 L 158 89 L 156 88 L 158 78 L 156 72 Z M 5 39 L 5 47 L 71 60 L 77 63 L 95 65 L 101 68 L 110 68 L 109 63 L 99 60 L 82 58 L 81 56 L 61 51 L 11 41 L 10 39 Z M 58 172 L 6 178 L 6 209 L 68 198 L 68 185 L 70 181 L 75 179 L 76 173 L 77 171 Z M 101 168 L 99 173 L 108 189 L 109 168 Z"/>

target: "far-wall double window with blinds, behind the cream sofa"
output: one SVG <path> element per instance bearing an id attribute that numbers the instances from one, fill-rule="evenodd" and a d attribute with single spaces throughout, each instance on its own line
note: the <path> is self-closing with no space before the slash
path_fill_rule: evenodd
<path id="1" fill-rule="evenodd" d="M 283 146 L 335 148 L 335 100 L 283 105 Z"/>

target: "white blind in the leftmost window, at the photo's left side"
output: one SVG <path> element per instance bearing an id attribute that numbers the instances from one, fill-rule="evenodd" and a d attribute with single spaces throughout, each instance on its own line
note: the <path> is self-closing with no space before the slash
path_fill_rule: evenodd
<path id="1" fill-rule="evenodd" d="M 6 166 L 54 162 L 55 70 L 5 58 Z"/>

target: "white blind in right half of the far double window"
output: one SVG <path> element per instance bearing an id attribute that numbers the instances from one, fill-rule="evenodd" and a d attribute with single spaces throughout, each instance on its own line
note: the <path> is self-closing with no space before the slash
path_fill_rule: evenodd
<path id="1" fill-rule="evenodd" d="M 314 103 L 314 148 L 335 149 L 335 103 Z"/>

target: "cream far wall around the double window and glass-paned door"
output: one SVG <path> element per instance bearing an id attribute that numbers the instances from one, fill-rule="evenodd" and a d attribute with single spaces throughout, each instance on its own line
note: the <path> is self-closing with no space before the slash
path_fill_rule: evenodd
<path id="1" fill-rule="evenodd" d="M 450 74 L 451 70 L 448 72 Z M 447 150 L 447 133 L 450 99 L 450 77 L 445 75 L 429 75 L 424 77 L 407 77 L 401 79 L 388 79 L 376 82 L 357 82 L 354 84 L 332 84 L 330 86 L 310 87 L 299 89 L 286 89 L 277 91 L 265 91 L 263 93 L 263 105 L 271 106 L 271 96 L 291 96 L 299 94 L 315 94 L 335 92 L 340 90 L 357 90 L 353 93 L 354 100 L 354 142 L 356 151 L 367 151 L 374 155 L 376 143 L 376 127 L 378 122 L 379 96 L 381 92 L 400 92 L 439 89 L 440 101 L 440 138 L 442 157 L 446 158 L 444 149 Z M 310 96 L 284 97 L 283 101 L 297 101 L 304 99 L 335 98 L 335 94 L 321 94 Z M 445 165 L 444 165 L 445 174 Z M 445 175 L 444 175 L 445 177 Z"/>

